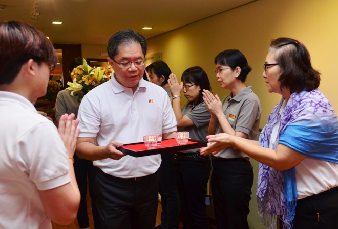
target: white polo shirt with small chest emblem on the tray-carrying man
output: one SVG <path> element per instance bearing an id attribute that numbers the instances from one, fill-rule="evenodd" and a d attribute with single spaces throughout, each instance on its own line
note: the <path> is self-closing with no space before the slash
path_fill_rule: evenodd
<path id="1" fill-rule="evenodd" d="M 83 97 L 78 118 L 79 137 L 96 138 L 99 146 L 106 146 L 112 140 L 123 144 L 142 142 L 144 135 L 177 130 L 167 93 L 143 79 L 133 93 L 112 77 Z M 93 161 L 103 172 L 121 178 L 153 174 L 160 163 L 160 155 Z"/>

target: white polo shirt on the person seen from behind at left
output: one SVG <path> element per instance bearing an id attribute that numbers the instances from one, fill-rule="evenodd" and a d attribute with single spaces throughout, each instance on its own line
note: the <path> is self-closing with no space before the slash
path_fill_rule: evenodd
<path id="1" fill-rule="evenodd" d="M 0 228 L 52 228 L 38 190 L 70 182 L 53 122 L 16 93 L 0 91 Z"/>

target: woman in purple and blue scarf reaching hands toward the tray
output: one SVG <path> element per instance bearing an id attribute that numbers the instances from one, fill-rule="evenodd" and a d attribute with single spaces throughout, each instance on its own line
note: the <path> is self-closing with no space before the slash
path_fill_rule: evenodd
<path id="1" fill-rule="evenodd" d="M 259 142 L 225 133 L 207 137 L 201 155 L 233 147 L 259 161 L 257 200 L 265 228 L 337 228 L 338 120 L 318 89 L 320 73 L 297 40 L 272 40 L 263 78 L 282 95 Z"/>

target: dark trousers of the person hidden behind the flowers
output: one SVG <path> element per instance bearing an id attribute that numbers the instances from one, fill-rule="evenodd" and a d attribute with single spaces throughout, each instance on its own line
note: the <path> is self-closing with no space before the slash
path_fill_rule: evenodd
<path id="1" fill-rule="evenodd" d="M 86 159 L 80 159 L 74 154 L 74 171 L 76 182 L 80 190 L 81 199 L 80 206 L 77 211 L 77 221 L 80 228 L 89 227 L 88 212 L 87 212 L 87 181 L 89 195 L 92 202 L 92 214 L 95 229 L 100 229 L 100 217 L 96 208 L 95 194 L 94 194 L 94 182 L 96 177 L 96 167 L 92 161 Z M 87 180 L 88 179 L 88 180 Z"/>

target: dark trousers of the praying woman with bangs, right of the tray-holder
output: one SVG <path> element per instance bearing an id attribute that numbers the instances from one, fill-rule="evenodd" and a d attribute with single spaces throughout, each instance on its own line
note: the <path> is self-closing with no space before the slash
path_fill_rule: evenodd
<path id="1" fill-rule="evenodd" d="M 205 196 L 211 171 L 210 161 L 175 160 L 176 181 L 184 229 L 207 229 Z"/>

